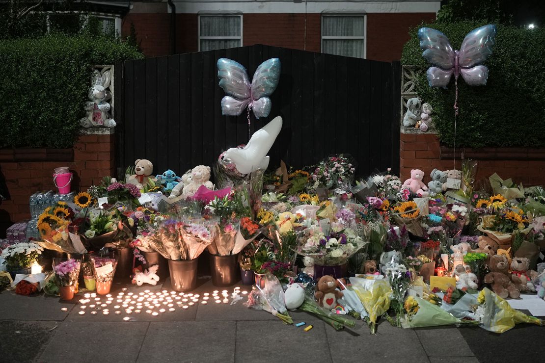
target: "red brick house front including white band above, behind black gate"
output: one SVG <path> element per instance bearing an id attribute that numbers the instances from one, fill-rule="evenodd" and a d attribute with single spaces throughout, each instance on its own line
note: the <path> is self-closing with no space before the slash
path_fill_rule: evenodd
<path id="1" fill-rule="evenodd" d="M 431 22 L 440 1 L 183 1 L 174 0 L 175 16 L 166 1 L 131 2 L 122 19 L 122 35 L 131 25 L 147 57 L 199 51 L 199 16 L 241 16 L 241 45 L 266 44 L 322 51 L 324 16 L 364 18 L 364 58 L 399 60 L 409 28 Z M 171 25 L 174 23 L 174 29 Z"/>

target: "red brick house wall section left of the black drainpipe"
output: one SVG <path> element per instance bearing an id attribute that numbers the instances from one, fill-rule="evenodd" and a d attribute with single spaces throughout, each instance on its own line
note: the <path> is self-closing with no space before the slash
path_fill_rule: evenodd
<path id="1" fill-rule="evenodd" d="M 167 13 L 128 14 L 123 18 L 121 34 L 127 36 L 134 23 L 138 44 L 146 57 L 167 56 L 170 51 L 170 15 Z"/>

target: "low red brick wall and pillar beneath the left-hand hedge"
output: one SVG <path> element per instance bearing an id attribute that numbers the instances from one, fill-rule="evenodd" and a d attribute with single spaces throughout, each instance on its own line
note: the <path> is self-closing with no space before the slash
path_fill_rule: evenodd
<path id="1" fill-rule="evenodd" d="M 73 179 L 71 189 L 86 190 L 100 183 L 103 176 L 115 175 L 114 135 L 81 135 L 74 145 L 73 162 L 2 162 L 10 200 L 0 204 L 2 219 L 9 214 L 11 222 L 30 217 L 28 198 L 38 190 L 54 190 L 54 168 L 68 166 Z M 2 222 L 5 222 L 4 220 Z"/>

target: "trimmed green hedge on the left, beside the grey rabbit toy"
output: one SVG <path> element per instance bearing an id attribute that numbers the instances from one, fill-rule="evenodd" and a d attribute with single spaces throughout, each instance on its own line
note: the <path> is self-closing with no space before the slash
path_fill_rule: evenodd
<path id="1" fill-rule="evenodd" d="M 111 38 L 1 40 L 0 147 L 71 147 L 85 115 L 91 65 L 142 57 Z"/>

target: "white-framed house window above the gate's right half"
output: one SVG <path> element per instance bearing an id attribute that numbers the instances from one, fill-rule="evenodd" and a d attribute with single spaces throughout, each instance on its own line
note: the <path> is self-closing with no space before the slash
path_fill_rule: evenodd
<path id="1" fill-rule="evenodd" d="M 365 15 L 322 16 L 322 53 L 365 57 Z"/>

